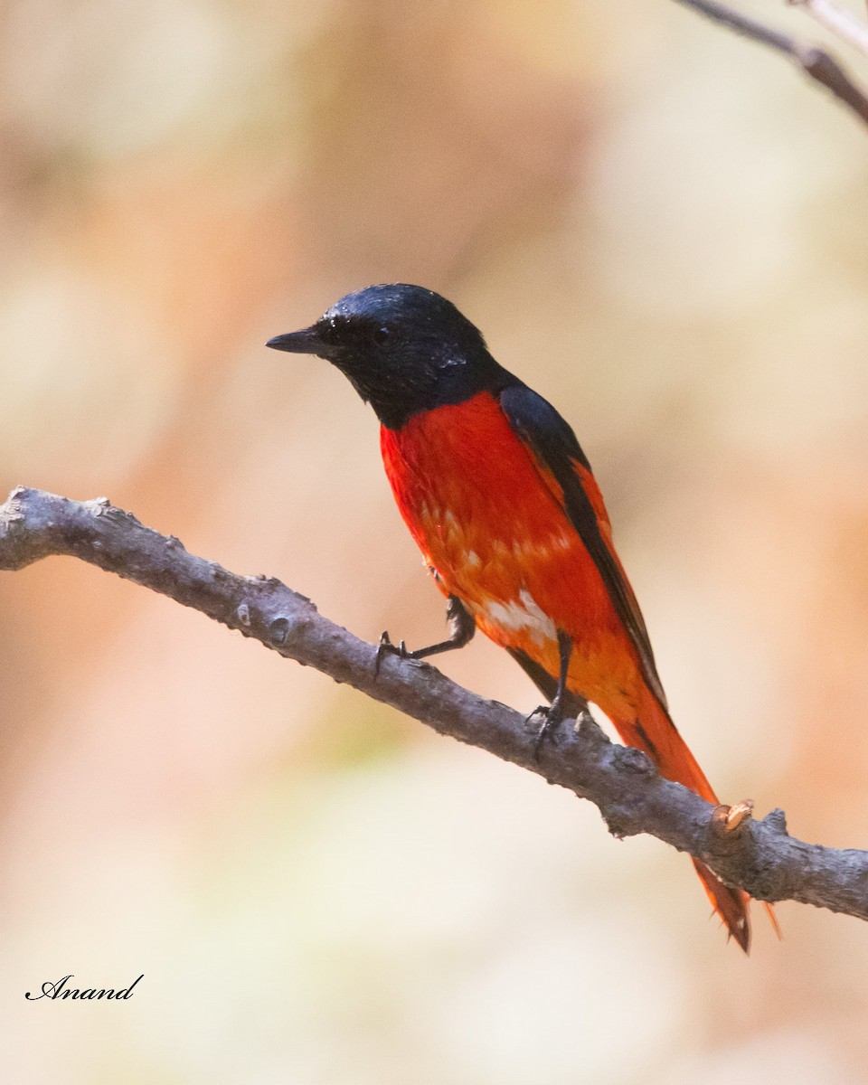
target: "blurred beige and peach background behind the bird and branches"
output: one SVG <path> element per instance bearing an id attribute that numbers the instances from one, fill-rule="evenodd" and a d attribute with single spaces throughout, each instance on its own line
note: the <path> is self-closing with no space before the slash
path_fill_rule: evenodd
<path id="1" fill-rule="evenodd" d="M 263 344 L 431 286 L 575 426 L 722 796 L 868 847 L 868 129 L 669 0 L 0 25 L 3 496 L 427 643 L 373 414 Z M 756 909 L 745 959 L 684 856 L 80 562 L 0 578 L 0 646 L 5 1081 L 864 1081 L 867 924 Z M 482 638 L 442 665 L 538 701 Z M 25 1001 L 69 972 L 144 979 Z"/>

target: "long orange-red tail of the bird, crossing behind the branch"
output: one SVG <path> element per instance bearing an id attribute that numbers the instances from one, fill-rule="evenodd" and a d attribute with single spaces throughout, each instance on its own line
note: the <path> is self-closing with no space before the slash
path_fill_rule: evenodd
<path id="1" fill-rule="evenodd" d="M 699 767 L 687 743 L 678 733 L 668 712 L 663 707 L 651 690 L 646 689 L 639 718 L 630 715 L 610 716 L 612 723 L 628 744 L 644 751 L 660 769 L 661 776 L 675 783 L 682 783 L 695 791 L 706 802 L 718 803 L 717 795 L 712 790 L 705 774 Z M 742 890 L 730 889 L 710 870 L 704 863 L 693 859 L 693 866 L 702 881 L 709 899 L 717 915 L 725 923 L 731 936 L 741 948 L 748 953 L 751 943 L 751 924 L 748 916 L 750 897 Z M 774 912 L 769 908 L 771 922 L 777 929 Z"/>

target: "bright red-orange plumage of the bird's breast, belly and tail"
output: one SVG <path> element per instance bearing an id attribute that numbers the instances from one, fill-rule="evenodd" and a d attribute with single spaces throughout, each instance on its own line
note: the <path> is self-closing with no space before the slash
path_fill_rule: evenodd
<path id="1" fill-rule="evenodd" d="M 398 508 L 441 590 L 457 596 L 496 643 L 558 675 L 557 630 L 573 638 L 567 689 L 592 701 L 621 738 L 671 780 L 717 803 L 675 728 L 653 660 L 642 658 L 609 587 L 564 511 L 563 489 L 516 434 L 498 399 L 482 392 L 381 429 Z M 612 547 L 590 471 L 573 470 L 587 494 L 639 628 L 644 624 Z M 650 656 L 650 649 L 648 650 Z M 715 910 L 746 949 L 749 897 L 694 860 Z"/>

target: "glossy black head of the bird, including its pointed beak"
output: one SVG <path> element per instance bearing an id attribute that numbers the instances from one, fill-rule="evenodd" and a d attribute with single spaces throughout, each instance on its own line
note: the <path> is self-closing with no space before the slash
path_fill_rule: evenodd
<path id="1" fill-rule="evenodd" d="M 332 362 L 393 430 L 419 411 L 463 403 L 513 380 L 451 302 L 406 283 L 347 294 L 315 324 L 267 345 Z"/>

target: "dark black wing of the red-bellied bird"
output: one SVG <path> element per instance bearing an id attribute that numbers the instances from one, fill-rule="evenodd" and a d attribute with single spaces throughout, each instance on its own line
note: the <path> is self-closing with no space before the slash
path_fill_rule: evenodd
<path id="1" fill-rule="evenodd" d="M 658 676 L 654 653 L 651 651 L 651 641 L 639 604 L 614 550 L 603 538 L 593 506 L 576 471 L 577 467 L 582 467 L 590 473 L 590 463 L 582 451 L 576 435 L 551 404 L 526 384 L 519 383 L 505 388 L 500 393 L 500 407 L 515 434 L 563 492 L 563 510 L 600 572 L 615 612 L 639 655 L 649 688 L 665 709 L 666 694 Z M 607 531 L 608 526 L 607 522 Z M 524 662 L 519 662 L 531 674 Z M 542 689 L 533 674 L 531 677 Z M 545 689 L 542 692 L 546 692 Z"/>

